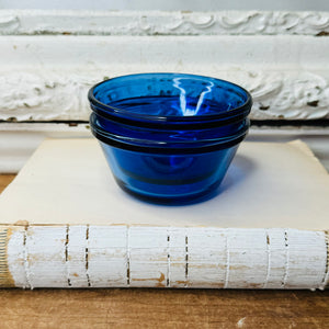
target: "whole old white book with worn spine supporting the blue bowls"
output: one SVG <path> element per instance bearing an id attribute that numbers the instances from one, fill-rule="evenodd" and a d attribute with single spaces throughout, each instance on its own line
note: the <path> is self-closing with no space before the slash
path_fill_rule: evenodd
<path id="1" fill-rule="evenodd" d="M 299 140 L 242 143 L 215 197 L 123 192 L 95 139 L 48 139 L 0 195 L 0 285 L 325 288 L 329 175 Z"/>

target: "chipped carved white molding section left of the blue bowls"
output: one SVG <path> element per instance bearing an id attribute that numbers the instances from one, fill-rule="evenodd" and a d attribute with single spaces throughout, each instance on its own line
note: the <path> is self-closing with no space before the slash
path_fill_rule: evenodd
<path id="1" fill-rule="evenodd" d="M 87 72 L 7 71 L 0 76 L 0 120 L 88 121 Z"/>

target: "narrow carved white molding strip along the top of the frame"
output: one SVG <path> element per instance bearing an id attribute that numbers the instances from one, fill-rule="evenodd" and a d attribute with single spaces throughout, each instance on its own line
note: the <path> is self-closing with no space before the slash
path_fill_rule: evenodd
<path id="1" fill-rule="evenodd" d="M 0 35 L 328 35 L 329 12 L 2 10 Z"/>

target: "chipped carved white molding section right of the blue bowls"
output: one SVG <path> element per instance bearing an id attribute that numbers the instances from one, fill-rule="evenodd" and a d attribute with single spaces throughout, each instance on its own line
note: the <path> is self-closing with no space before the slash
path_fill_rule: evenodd
<path id="1" fill-rule="evenodd" d="M 310 71 L 247 75 L 245 86 L 253 98 L 251 118 L 329 118 L 328 77 Z"/>

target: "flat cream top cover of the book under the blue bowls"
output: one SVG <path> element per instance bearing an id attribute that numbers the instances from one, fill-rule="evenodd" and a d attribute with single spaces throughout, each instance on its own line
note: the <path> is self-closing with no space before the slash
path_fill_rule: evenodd
<path id="1" fill-rule="evenodd" d="M 302 143 L 242 143 L 216 197 L 157 206 L 116 185 L 95 139 L 54 139 L 0 196 L 0 218 L 3 224 L 327 229 L 328 200 L 329 175 Z"/>

